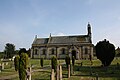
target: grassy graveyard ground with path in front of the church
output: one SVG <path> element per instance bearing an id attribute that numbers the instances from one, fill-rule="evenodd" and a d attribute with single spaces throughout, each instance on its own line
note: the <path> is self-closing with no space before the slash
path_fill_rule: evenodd
<path id="1" fill-rule="evenodd" d="M 82 62 L 82 64 L 81 64 Z M 65 60 L 57 60 L 62 67 L 62 80 L 119 80 L 120 79 L 120 58 L 115 57 L 111 65 L 101 67 L 98 59 L 75 60 L 73 70 L 70 72 L 66 68 Z M 51 79 L 51 60 L 44 60 L 43 67 L 40 66 L 40 59 L 29 59 L 31 65 L 31 80 L 50 80 Z M 72 71 L 72 72 L 71 72 Z M 68 72 L 70 75 L 68 75 Z M 56 73 L 54 73 L 56 74 Z M 56 78 L 57 76 L 54 76 Z M 68 78 L 69 77 L 69 78 Z M 18 72 L 15 71 L 13 61 L 0 62 L 0 79 L 19 80 Z"/>

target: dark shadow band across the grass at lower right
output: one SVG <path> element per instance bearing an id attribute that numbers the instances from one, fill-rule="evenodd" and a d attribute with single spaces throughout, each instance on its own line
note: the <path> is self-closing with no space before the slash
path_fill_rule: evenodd
<path id="1" fill-rule="evenodd" d="M 75 65 L 74 72 L 73 76 L 120 78 L 120 69 L 117 69 L 116 65 L 110 65 L 109 67 Z"/>

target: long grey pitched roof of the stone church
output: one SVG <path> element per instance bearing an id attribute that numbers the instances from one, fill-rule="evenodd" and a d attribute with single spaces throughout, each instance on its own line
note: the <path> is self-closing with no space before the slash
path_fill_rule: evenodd
<path id="1" fill-rule="evenodd" d="M 36 38 L 33 44 L 69 44 L 82 42 L 89 42 L 88 35 L 50 36 L 49 38 Z"/>

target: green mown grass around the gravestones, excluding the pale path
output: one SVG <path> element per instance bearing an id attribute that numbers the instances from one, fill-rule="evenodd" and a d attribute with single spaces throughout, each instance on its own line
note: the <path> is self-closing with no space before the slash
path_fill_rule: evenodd
<path id="1" fill-rule="evenodd" d="M 60 64 L 65 63 L 64 60 L 58 61 Z M 82 66 L 79 64 L 82 62 Z M 69 80 L 95 80 L 97 75 L 99 80 L 120 80 L 120 68 L 117 67 L 117 63 L 120 62 L 120 58 L 115 58 L 109 67 L 101 67 L 101 62 L 99 60 L 93 60 L 93 65 L 90 65 L 89 60 L 76 60 L 74 66 L 74 74 Z M 10 64 L 12 64 L 10 62 Z M 50 80 L 51 75 L 51 60 L 44 60 L 44 69 L 40 67 L 40 59 L 31 59 L 30 65 L 32 65 L 32 70 L 38 70 L 32 73 L 32 80 Z M 0 77 L 16 74 L 10 65 L 5 66 L 5 70 L 0 73 Z M 63 80 L 68 80 L 66 65 L 62 64 L 63 69 Z M 12 78 L 12 80 L 19 80 L 18 77 Z"/>

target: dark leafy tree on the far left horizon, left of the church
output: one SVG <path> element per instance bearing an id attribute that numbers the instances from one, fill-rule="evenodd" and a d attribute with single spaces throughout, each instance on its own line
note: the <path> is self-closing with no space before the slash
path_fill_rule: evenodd
<path id="1" fill-rule="evenodd" d="M 14 46 L 14 44 L 7 43 L 6 46 L 5 46 L 4 52 L 6 54 L 6 58 L 12 58 L 13 55 L 15 54 L 15 46 Z"/>

